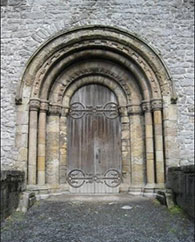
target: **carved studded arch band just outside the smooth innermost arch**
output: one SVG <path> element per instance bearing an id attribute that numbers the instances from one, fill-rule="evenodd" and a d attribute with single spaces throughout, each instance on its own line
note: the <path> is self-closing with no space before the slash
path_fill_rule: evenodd
<path id="1" fill-rule="evenodd" d="M 112 70 L 111 67 L 114 69 Z M 99 80 L 98 82 L 104 82 L 105 85 L 109 85 L 106 83 L 106 79 L 109 79 L 110 83 L 112 80 L 112 84 L 110 84 L 110 89 L 113 89 L 114 87 L 121 89 L 124 93 L 124 100 L 126 100 L 126 105 L 131 104 L 131 99 L 133 99 L 134 103 L 141 103 L 143 97 L 140 95 L 139 87 L 136 85 L 136 82 L 133 78 L 133 76 L 130 76 L 129 73 L 125 73 L 124 70 L 122 70 L 120 67 L 114 66 L 113 63 L 104 63 L 103 61 L 100 62 L 87 62 L 84 64 L 79 64 L 78 66 L 74 65 L 70 69 L 70 72 L 64 72 L 55 82 L 51 89 L 51 95 L 49 97 L 49 100 L 54 103 L 61 104 L 62 98 L 64 96 L 65 90 L 68 88 L 69 85 L 72 83 L 77 82 L 78 79 L 82 77 L 88 77 L 88 76 L 98 76 Z M 104 77 L 105 80 L 102 78 Z M 132 79 L 131 82 L 129 79 Z M 91 80 L 90 80 L 91 82 Z M 52 93 L 57 94 L 52 99 Z M 122 95 L 121 95 L 122 96 Z"/>

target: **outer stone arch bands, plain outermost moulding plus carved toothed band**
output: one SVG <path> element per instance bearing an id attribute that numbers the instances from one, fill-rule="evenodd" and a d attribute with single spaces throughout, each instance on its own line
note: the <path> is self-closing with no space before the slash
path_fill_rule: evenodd
<path id="1" fill-rule="evenodd" d="M 131 59 L 133 58 L 142 67 L 144 73 L 148 75 L 149 81 L 154 82 L 155 79 L 159 81 L 163 95 L 175 96 L 167 69 L 164 67 L 159 56 L 145 42 L 122 30 L 110 27 L 90 26 L 70 32 L 61 32 L 50 41 L 47 41 L 44 47 L 41 47 L 29 61 L 29 65 L 21 81 L 18 98 L 21 98 L 21 89 L 24 82 L 28 85 L 35 79 L 34 83 L 39 85 L 42 77 L 50 66 L 52 66 L 52 63 L 55 63 L 55 61 L 64 55 L 64 48 L 69 49 L 70 53 L 73 50 L 77 51 L 79 45 L 81 46 L 80 48 L 84 48 L 85 45 L 83 42 L 85 39 L 89 39 L 85 43 L 86 46 L 90 44 L 98 46 L 101 44 L 104 49 L 105 47 L 112 47 L 117 52 L 120 52 L 121 55 L 125 54 Z M 112 42 L 109 42 L 110 40 Z M 39 76 L 35 78 L 38 72 Z"/>

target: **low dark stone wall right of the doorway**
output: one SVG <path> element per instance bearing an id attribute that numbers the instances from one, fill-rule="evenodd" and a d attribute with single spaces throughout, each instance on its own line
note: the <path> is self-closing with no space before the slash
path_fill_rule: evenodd
<path id="1" fill-rule="evenodd" d="M 195 217 L 195 167 L 170 167 L 167 175 L 167 188 L 172 189 L 175 202 Z"/>

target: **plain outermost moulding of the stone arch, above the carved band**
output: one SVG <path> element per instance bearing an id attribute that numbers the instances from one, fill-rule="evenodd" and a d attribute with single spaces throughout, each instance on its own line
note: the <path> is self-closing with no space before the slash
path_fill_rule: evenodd
<path id="1" fill-rule="evenodd" d="M 105 39 L 116 40 L 123 46 L 120 47 L 121 53 L 126 47 L 134 48 L 136 55 L 143 57 L 143 60 L 146 60 L 148 66 L 153 70 L 154 75 L 157 79 L 161 79 L 162 88 L 168 88 L 171 103 L 176 103 L 177 98 L 175 97 L 174 83 L 170 77 L 166 64 L 159 55 L 159 51 L 151 47 L 147 41 L 143 38 L 140 38 L 138 34 L 130 33 L 124 28 L 118 28 L 115 26 L 104 26 L 104 25 L 85 25 L 75 27 L 71 30 L 61 30 L 58 33 L 52 35 L 47 41 L 40 45 L 40 47 L 35 51 L 35 53 L 29 59 L 22 80 L 20 82 L 19 90 L 17 91 L 16 104 L 20 105 L 22 103 L 22 93 L 24 84 L 32 85 L 32 80 L 34 75 L 39 70 L 40 65 L 47 60 L 48 56 L 55 55 L 54 47 L 59 48 L 61 45 L 67 46 L 68 44 L 82 43 L 86 38 L 86 31 L 90 31 L 90 40 L 96 40 L 97 36 L 101 34 Z M 72 36 L 71 36 L 72 34 Z M 63 37 L 63 38 L 62 38 Z M 69 38 L 68 38 L 69 37 Z M 108 48 L 109 46 L 107 46 Z M 136 57 L 137 58 L 137 57 Z M 39 60 L 39 61 L 37 61 Z M 40 64 L 40 62 L 42 62 Z M 147 69 L 147 68 L 146 68 Z M 147 70 L 146 70 L 147 71 Z M 34 75 L 33 75 L 34 73 Z M 30 82 L 29 82 L 30 80 Z M 164 82 L 164 83 L 163 83 Z M 165 85 L 164 85 L 165 84 Z M 166 87 L 165 87 L 166 86 Z"/>

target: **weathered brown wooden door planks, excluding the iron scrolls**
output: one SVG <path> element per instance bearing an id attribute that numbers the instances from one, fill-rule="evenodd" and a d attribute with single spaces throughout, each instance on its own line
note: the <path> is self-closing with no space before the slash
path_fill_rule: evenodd
<path id="1" fill-rule="evenodd" d="M 101 85 L 86 85 L 77 90 L 71 103 L 81 102 L 85 107 L 104 107 L 117 103 L 115 95 Z M 68 170 L 81 169 L 85 174 L 104 175 L 114 168 L 121 170 L 120 119 L 108 119 L 103 113 L 90 113 L 81 119 L 68 118 Z M 85 183 L 81 193 L 113 193 L 118 188 L 109 188 L 101 183 Z"/>

